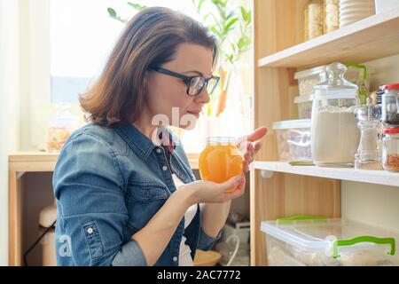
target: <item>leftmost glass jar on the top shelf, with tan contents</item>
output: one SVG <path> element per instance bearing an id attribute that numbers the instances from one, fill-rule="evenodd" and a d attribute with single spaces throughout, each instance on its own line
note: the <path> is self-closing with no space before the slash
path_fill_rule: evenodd
<path id="1" fill-rule="evenodd" d="M 323 36 L 325 29 L 323 0 L 310 0 L 305 5 L 304 25 L 305 41 Z"/>

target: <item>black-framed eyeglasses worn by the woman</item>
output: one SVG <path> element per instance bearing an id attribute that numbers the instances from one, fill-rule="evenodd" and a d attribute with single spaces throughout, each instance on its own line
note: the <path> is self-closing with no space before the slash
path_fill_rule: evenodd
<path id="1" fill-rule="evenodd" d="M 219 83 L 220 77 L 211 75 L 207 78 L 203 76 L 185 76 L 182 74 L 178 74 L 176 72 L 170 71 L 168 69 L 164 69 L 162 67 L 151 67 L 156 72 L 161 74 L 170 75 L 176 78 L 180 78 L 187 84 L 187 95 L 189 96 L 198 96 L 200 92 L 207 87 L 207 94 L 211 95 Z"/>

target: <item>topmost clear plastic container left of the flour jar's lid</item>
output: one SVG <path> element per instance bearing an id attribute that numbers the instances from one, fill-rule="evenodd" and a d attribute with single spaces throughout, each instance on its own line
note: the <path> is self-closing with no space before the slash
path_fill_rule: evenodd
<path id="1" fill-rule="evenodd" d="M 298 80 L 301 96 L 310 96 L 315 93 L 315 86 L 327 80 L 326 66 L 314 67 L 311 69 L 296 72 L 293 76 Z"/>

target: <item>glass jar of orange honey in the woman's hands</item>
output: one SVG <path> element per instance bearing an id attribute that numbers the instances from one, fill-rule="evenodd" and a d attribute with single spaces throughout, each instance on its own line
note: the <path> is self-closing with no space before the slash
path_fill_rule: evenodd
<path id="1" fill-rule="evenodd" d="M 209 137 L 200 154 L 200 177 L 203 180 L 223 183 L 243 173 L 242 157 L 232 137 Z M 231 189 L 229 192 L 235 191 Z"/>

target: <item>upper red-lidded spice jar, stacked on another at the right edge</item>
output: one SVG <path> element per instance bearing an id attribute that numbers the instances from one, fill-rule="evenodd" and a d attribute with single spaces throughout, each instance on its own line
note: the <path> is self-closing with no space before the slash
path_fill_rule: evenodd
<path id="1" fill-rule="evenodd" d="M 382 86 L 382 122 L 387 127 L 399 126 L 399 83 Z"/>

